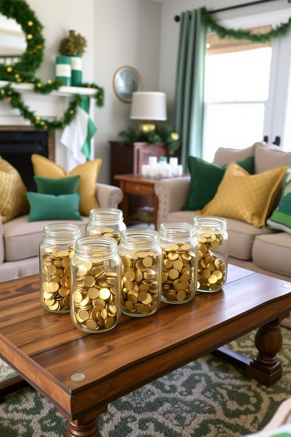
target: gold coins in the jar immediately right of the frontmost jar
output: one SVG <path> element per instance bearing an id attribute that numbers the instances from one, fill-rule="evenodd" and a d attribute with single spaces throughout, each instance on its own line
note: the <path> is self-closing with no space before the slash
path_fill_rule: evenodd
<path id="1" fill-rule="evenodd" d="M 160 257 L 152 250 L 135 250 L 120 257 L 123 309 L 137 315 L 156 311 L 160 303 Z"/>

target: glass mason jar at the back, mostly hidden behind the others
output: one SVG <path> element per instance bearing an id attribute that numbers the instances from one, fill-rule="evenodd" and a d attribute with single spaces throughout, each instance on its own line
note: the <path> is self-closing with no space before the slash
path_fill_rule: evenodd
<path id="1" fill-rule="evenodd" d="M 105 235 L 120 243 L 120 234 L 126 229 L 123 222 L 123 212 L 115 208 L 94 208 L 89 212 L 89 222 L 86 225 L 85 236 Z"/>

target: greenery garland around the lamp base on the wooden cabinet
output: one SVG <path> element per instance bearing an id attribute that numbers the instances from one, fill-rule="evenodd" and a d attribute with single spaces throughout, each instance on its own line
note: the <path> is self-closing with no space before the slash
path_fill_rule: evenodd
<path id="1" fill-rule="evenodd" d="M 133 128 L 127 128 L 125 131 L 120 132 L 118 136 L 123 138 L 123 143 L 151 142 L 157 144 L 158 142 L 164 142 L 167 145 L 169 155 L 174 155 L 175 151 L 180 147 L 178 142 L 179 135 L 176 132 L 172 132 L 171 127 L 168 125 L 164 125 L 158 132 L 151 132 L 149 134 L 139 132 Z"/>

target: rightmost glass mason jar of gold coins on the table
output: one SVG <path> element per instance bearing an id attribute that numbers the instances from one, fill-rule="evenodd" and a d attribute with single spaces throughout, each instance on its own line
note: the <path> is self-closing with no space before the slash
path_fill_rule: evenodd
<path id="1" fill-rule="evenodd" d="M 197 290 L 218 291 L 226 282 L 228 234 L 222 217 L 194 217 L 199 244 Z"/>

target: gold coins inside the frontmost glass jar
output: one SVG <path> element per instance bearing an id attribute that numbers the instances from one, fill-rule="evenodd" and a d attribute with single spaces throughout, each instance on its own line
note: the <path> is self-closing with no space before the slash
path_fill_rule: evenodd
<path id="1" fill-rule="evenodd" d="M 72 261 L 72 318 L 80 329 L 106 331 L 120 316 L 118 274 L 110 260 L 91 261 Z"/>

